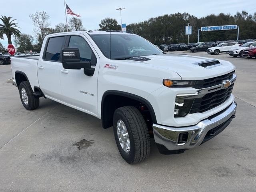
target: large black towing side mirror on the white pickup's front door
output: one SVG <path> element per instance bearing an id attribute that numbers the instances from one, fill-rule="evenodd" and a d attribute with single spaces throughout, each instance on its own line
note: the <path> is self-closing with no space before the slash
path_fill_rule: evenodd
<path id="1" fill-rule="evenodd" d="M 64 69 L 91 68 L 91 62 L 80 61 L 80 53 L 78 48 L 63 48 L 62 66 Z"/>

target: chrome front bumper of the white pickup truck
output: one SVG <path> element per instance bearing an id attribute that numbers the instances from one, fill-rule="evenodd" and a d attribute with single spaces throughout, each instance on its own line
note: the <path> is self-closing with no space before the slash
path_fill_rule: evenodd
<path id="1" fill-rule="evenodd" d="M 236 102 L 221 112 L 202 120 L 194 126 L 170 127 L 153 124 L 155 142 L 162 154 L 182 153 L 199 146 L 219 134 L 235 117 Z M 180 141 L 180 134 L 187 134 L 186 141 Z"/>

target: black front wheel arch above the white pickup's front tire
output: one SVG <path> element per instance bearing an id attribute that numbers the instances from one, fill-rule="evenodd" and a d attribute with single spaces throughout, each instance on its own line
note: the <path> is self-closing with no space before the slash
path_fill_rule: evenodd
<path id="1" fill-rule="evenodd" d="M 108 90 L 104 92 L 101 102 L 101 121 L 104 129 L 113 125 L 114 111 L 122 106 L 142 104 L 146 106 L 150 119 L 153 123 L 156 123 L 156 115 L 150 102 L 145 98 L 128 92 Z"/>

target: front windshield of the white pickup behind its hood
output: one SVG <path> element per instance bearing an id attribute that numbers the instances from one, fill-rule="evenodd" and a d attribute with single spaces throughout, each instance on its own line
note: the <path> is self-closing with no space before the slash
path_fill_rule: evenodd
<path id="1" fill-rule="evenodd" d="M 163 54 L 160 49 L 137 35 L 111 34 L 90 35 L 105 57 L 109 59 L 125 59 L 134 56 Z M 111 58 L 110 58 L 111 56 Z"/>

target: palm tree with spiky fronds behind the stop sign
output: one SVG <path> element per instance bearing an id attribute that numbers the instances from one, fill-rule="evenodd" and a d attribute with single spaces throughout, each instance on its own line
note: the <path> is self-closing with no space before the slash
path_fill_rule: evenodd
<path id="1" fill-rule="evenodd" d="M 0 39 L 4 39 L 4 34 L 7 36 L 8 38 L 8 44 L 12 44 L 12 40 L 11 40 L 11 36 L 20 36 L 20 30 L 18 30 L 17 28 L 17 23 L 14 23 L 14 20 L 10 21 L 12 17 L 6 17 L 6 16 L 2 16 L 2 18 L 0 18 L 0 20 L 2 20 L 3 24 L 0 24 Z"/>

